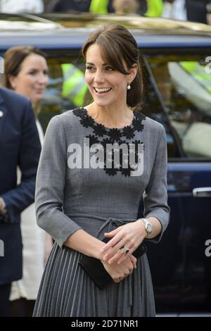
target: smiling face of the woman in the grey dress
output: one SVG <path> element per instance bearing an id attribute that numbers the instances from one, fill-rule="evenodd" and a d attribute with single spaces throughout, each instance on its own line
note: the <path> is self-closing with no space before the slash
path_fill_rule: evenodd
<path id="1" fill-rule="evenodd" d="M 131 76 L 105 63 L 98 44 L 87 49 L 85 80 L 98 106 L 127 107 L 127 85 L 132 81 Z"/>

